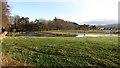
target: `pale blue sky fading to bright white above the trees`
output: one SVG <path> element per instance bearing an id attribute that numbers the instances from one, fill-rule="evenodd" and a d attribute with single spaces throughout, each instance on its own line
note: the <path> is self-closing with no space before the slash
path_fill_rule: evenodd
<path id="1" fill-rule="evenodd" d="M 120 0 L 8 0 L 11 15 L 52 20 L 58 17 L 79 24 L 91 20 L 117 20 Z"/>

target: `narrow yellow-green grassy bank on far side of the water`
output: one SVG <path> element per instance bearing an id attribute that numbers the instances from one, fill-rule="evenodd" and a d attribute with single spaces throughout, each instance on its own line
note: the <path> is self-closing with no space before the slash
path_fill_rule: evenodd
<path id="1" fill-rule="evenodd" d="M 42 31 L 43 33 L 53 33 L 53 34 L 80 34 L 80 33 L 102 33 L 102 34 L 113 34 L 118 32 L 117 30 L 51 30 Z"/>

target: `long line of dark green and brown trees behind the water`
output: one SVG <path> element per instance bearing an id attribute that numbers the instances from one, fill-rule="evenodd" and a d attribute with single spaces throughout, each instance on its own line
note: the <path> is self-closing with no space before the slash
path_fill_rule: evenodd
<path id="1" fill-rule="evenodd" d="M 10 16 L 9 31 L 16 29 L 18 32 L 48 31 L 48 30 L 83 30 L 96 29 L 96 26 L 79 25 L 76 22 L 65 21 L 55 17 L 53 20 L 36 19 L 29 21 L 28 17 Z"/>

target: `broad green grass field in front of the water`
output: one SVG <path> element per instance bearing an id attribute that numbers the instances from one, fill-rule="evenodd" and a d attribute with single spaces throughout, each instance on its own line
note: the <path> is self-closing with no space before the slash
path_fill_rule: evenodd
<path id="1" fill-rule="evenodd" d="M 8 37 L 3 53 L 35 66 L 119 66 L 117 37 Z"/>

